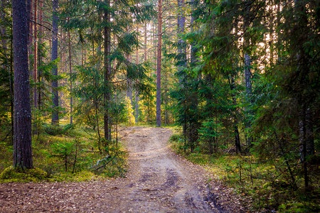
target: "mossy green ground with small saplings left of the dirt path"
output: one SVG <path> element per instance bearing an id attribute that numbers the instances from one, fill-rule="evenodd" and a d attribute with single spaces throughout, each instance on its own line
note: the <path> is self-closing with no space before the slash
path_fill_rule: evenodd
<path id="1" fill-rule="evenodd" d="M 116 147 L 114 141 L 108 141 L 106 149 L 104 144 L 100 147 L 101 151 L 92 129 L 44 126 L 40 134 L 33 136 L 32 170 L 12 168 L 13 146 L 8 141 L 0 143 L 0 182 L 81 182 L 124 176 L 127 152 L 122 144 Z M 110 162 L 103 160 L 106 155 L 112 157 Z"/>

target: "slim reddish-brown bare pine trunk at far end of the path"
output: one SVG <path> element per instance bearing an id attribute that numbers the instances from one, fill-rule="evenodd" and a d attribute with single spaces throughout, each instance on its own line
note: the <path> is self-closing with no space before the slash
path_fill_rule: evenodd
<path id="1" fill-rule="evenodd" d="M 156 55 L 156 126 L 161 126 L 162 0 L 158 1 L 158 48 Z"/>

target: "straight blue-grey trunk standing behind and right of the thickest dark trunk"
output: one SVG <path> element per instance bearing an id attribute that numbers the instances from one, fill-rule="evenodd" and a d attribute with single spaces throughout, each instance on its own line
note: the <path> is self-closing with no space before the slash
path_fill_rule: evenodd
<path id="1" fill-rule="evenodd" d="M 58 0 L 53 0 L 53 18 L 52 18 L 52 54 L 51 60 L 57 60 L 58 58 Z M 53 77 L 58 76 L 58 65 L 54 65 L 52 69 Z M 52 81 L 53 92 L 53 111 L 52 111 L 52 124 L 59 125 L 59 96 L 58 96 L 58 80 L 55 78 Z"/>

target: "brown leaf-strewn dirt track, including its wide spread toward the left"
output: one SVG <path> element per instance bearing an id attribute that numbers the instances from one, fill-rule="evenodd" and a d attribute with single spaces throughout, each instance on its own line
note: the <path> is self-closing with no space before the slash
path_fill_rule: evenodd
<path id="1" fill-rule="evenodd" d="M 1 184 L 0 212 L 243 212 L 218 183 L 208 190 L 201 167 L 170 150 L 170 129 L 123 132 L 127 178 Z"/>

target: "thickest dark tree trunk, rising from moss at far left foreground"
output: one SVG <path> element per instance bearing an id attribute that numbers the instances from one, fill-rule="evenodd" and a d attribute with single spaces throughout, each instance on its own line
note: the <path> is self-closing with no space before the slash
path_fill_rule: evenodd
<path id="1" fill-rule="evenodd" d="M 14 33 L 14 167 L 33 168 L 26 1 L 12 1 Z"/>

